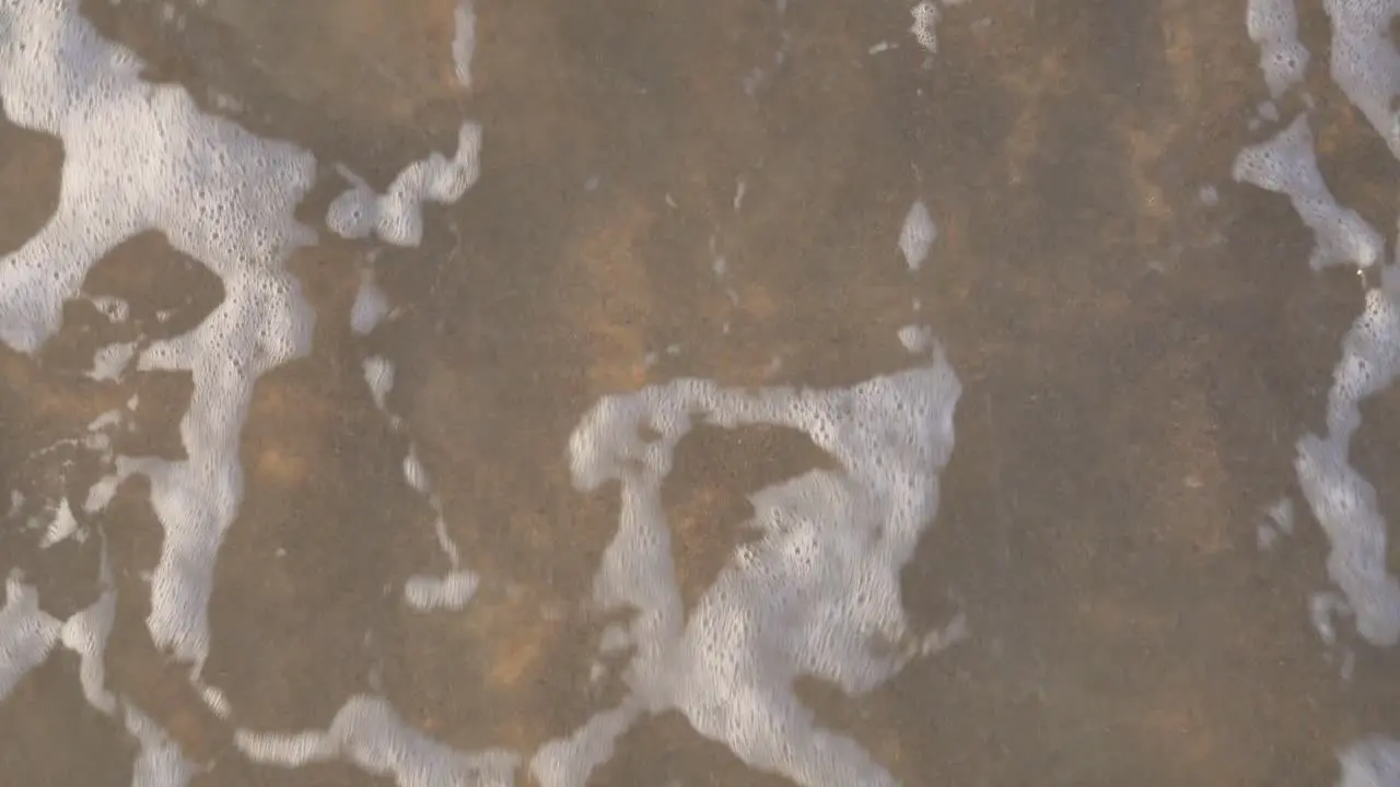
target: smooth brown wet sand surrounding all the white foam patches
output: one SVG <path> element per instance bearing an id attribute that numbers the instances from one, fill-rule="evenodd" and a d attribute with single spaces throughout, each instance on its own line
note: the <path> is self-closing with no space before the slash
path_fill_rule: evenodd
<path id="1" fill-rule="evenodd" d="M 920 627 L 963 609 L 972 639 L 861 700 L 802 685 L 825 724 L 909 786 L 1331 784 L 1337 746 L 1400 731 L 1394 651 L 1359 648 L 1350 683 L 1323 658 L 1306 602 L 1327 587 L 1324 543 L 1301 497 L 1298 534 L 1254 543 L 1264 510 L 1294 494 L 1292 444 L 1320 423 L 1361 288 L 1306 267 L 1312 238 L 1287 200 L 1228 179 L 1239 147 L 1271 133 L 1246 129 L 1267 94 L 1243 3 L 972 0 L 945 13 L 925 69 L 904 3 L 794 0 L 780 18 L 738 0 L 480 0 L 465 95 L 448 0 L 176 6 L 183 29 L 157 3 L 85 10 L 154 78 L 210 109 L 211 91 L 234 95 L 231 116 L 312 150 L 325 174 L 308 223 L 340 189 L 332 162 L 382 188 L 451 148 L 463 118 L 486 130 L 480 182 L 427 210 L 421 248 L 372 263 L 403 309 L 372 337 L 347 316 L 371 244 L 322 227 L 293 260 L 315 347 L 258 384 L 210 612 L 206 676 L 238 724 L 325 727 L 378 681 L 430 735 L 528 758 L 619 690 L 588 681 L 606 620 L 582 599 L 617 503 L 570 485 L 578 417 L 680 375 L 857 382 L 902 368 L 895 332 L 928 322 L 963 399 L 906 606 Z M 1338 200 L 1387 231 L 1396 165 L 1327 84 L 1312 6 L 1319 158 Z M 881 41 L 899 48 L 869 55 Z M 755 67 L 769 76 L 749 97 Z M 60 151 L 4 123 L 0 146 L 8 251 L 52 209 Z M 1204 185 L 1219 204 L 1201 203 Z M 895 248 L 914 199 L 941 232 L 917 276 Z M 132 322 L 104 329 L 132 335 L 183 330 L 220 297 L 158 237 L 112 252 L 88 284 L 132 300 Z M 164 308 L 176 316 L 157 325 Z M 119 450 L 181 450 L 188 382 L 77 377 L 123 337 L 83 333 L 99 322 L 81 309 L 41 363 L 0 350 L 0 492 L 81 487 L 81 469 L 64 482 L 59 458 L 29 454 L 132 394 L 141 427 Z M 363 384 L 370 353 L 396 361 L 391 406 L 482 576 L 462 613 L 416 615 L 391 592 L 445 563 L 402 483 L 407 437 Z M 1393 394 L 1365 417 L 1358 468 L 1397 511 Z M 826 462 L 774 430 L 682 444 L 665 492 L 687 602 L 745 538 L 745 496 Z M 196 786 L 389 784 L 232 752 L 231 727 L 143 626 L 140 573 L 160 545 L 144 485 L 105 521 L 122 591 L 109 688 L 213 763 Z M 0 564 L 25 566 L 50 612 L 95 598 L 94 541 L 32 541 L 0 531 Z M 0 704 L 0 773 L 127 783 L 134 748 L 83 703 L 76 669 L 56 654 Z M 624 737 L 589 781 L 785 783 L 678 716 Z"/>

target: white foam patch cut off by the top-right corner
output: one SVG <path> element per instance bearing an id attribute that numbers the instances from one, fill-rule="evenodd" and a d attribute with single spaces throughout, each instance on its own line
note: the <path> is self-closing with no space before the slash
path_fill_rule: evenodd
<path id="1" fill-rule="evenodd" d="M 1400 125 L 1394 113 L 1400 53 L 1390 38 L 1390 21 L 1400 13 L 1400 0 L 1326 0 L 1323 6 L 1331 20 L 1333 81 L 1400 158 Z"/>

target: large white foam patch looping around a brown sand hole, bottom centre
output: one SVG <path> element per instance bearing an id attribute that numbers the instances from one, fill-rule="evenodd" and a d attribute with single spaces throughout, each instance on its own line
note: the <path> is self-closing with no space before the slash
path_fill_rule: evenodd
<path id="1" fill-rule="evenodd" d="M 620 485 L 594 598 L 605 611 L 634 611 L 636 650 L 626 699 L 536 753 L 531 772 L 543 787 L 585 784 L 641 714 L 669 709 L 749 766 L 798 784 L 896 784 L 858 744 L 818 727 L 792 686 L 809 675 L 861 695 L 959 637 L 956 625 L 913 633 L 900 598 L 900 569 L 938 508 L 962 392 L 942 351 L 927 357 L 851 388 L 678 379 L 594 406 L 570 438 L 570 466 L 582 490 Z M 661 486 L 697 422 L 795 429 L 840 469 L 752 494 L 762 536 L 735 550 L 686 619 Z"/>

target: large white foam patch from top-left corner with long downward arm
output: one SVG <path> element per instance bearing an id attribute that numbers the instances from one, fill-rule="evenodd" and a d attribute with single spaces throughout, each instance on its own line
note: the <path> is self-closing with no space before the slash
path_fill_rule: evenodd
<path id="1" fill-rule="evenodd" d="M 140 80 L 140 60 L 101 39 L 74 0 L 0 6 L 0 97 L 17 125 L 64 148 L 59 206 L 0 260 L 0 340 L 32 353 L 60 325 L 88 269 L 143 231 L 200 260 L 224 301 L 192 332 L 151 344 L 143 370 L 189 371 L 186 459 L 146 459 L 165 531 L 147 627 L 200 665 L 214 559 L 242 497 L 238 438 L 256 378 L 307 351 L 312 314 L 283 262 L 314 234 L 293 217 L 315 161 L 203 115 L 185 90 Z"/>

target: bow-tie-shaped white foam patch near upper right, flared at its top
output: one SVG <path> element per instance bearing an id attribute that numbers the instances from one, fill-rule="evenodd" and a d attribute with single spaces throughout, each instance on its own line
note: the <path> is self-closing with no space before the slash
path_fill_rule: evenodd
<path id="1" fill-rule="evenodd" d="M 1298 217 L 1313 231 L 1316 246 L 1309 259 L 1313 269 L 1345 263 L 1369 267 L 1382 260 L 1380 234 L 1355 210 L 1337 204 L 1323 182 L 1306 115 L 1273 139 L 1239 151 L 1233 176 L 1288 196 Z"/>

